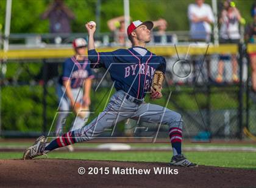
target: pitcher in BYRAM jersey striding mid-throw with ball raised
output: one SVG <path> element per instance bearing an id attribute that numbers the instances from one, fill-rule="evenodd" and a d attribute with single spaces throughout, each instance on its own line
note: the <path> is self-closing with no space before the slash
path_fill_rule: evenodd
<path id="1" fill-rule="evenodd" d="M 24 159 L 32 159 L 69 144 L 88 141 L 104 132 L 105 129 L 115 126 L 119 121 L 132 118 L 168 125 L 173 150 L 170 164 L 185 167 L 196 166 L 182 155 L 182 116 L 165 107 L 144 102 L 144 96 L 149 90 L 151 90 L 151 98 L 162 97 L 161 90 L 166 68 L 166 62 L 162 56 L 157 56 L 144 48 L 146 43 L 151 41 L 153 25 L 151 21 L 133 21 L 127 28 L 132 47 L 103 53 L 96 52 L 94 47 L 93 36 L 96 27 L 88 23 L 85 25 L 89 36 L 88 57 L 91 67 L 108 69 L 115 82 L 116 93 L 110 98 L 104 112 L 100 113 L 90 124 L 82 129 L 68 132 L 49 144 L 46 144 L 44 136 L 40 136 L 34 146 L 24 152 Z"/>

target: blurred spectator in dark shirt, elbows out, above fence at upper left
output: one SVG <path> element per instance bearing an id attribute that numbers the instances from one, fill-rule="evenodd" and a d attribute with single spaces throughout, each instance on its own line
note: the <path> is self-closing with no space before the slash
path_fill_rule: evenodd
<path id="1" fill-rule="evenodd" d="M 41 18 L 49 19 L 50 33 L 71 33 L 70 21 L 74 19 L 75 16 L 74 13 L 66 7 L 63 0 L 54 0 L 41 15 Z"/>

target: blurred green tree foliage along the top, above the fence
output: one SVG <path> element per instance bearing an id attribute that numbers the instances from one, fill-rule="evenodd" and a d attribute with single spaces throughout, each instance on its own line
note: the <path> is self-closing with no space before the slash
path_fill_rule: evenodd
<path id="1" fill-rule="evenodd" d="M 41 20 L 40 15 L 52 1 L 48 0 L 13 0 L 11 33 L 47 33 L 49 21 Z M 130 16 L 133 20 L 168 21 L 168 30 L 188 30 L 187 8 L 193 0 L 130 0 Z M 212 4 L 212 1 L 205 1 Z M 221 1 L 218 1 L 221 2 Z M 235 0 L 236 7 L 247 22 L 251 22 L 253 0 Z M 0 1 L 0 23 L 4 25 L 6 0 Z M 76 19 L 72 21 L 73 32 L 84 32 L 84 24 L 96 19 L 97 0 L 65 0 L 73 10 Z M 124 14 L 122 0 L 101 0 L 101 32 L 108 32 L 107 20 Z"/>

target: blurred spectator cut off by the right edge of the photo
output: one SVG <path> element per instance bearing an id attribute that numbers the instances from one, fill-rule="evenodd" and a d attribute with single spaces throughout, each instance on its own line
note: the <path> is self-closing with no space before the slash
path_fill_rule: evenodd
<path id="1" fill-rule="evenodd" d="M 251 15 L 254 21 L 246 27 L 246 42 L 256 44 L 256 4 L 252 5 Z M 252 90 L 256 92 L 256 52 L 249 53 L 252 67 Z"/>

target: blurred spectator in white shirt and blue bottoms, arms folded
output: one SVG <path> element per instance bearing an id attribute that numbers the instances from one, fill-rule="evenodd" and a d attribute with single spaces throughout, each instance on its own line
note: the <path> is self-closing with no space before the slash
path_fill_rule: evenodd
<path id="1" fill-rule="evenodd" d="M 194 41 L 210 42 L 211 25 L 215 21 L 212 8 L 204 4 L 204 0 L 196 0 L 196 4 L 188 6 L 190 20 L 190 36 Z"/>

